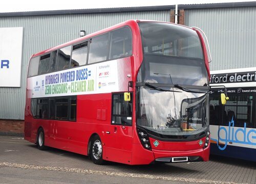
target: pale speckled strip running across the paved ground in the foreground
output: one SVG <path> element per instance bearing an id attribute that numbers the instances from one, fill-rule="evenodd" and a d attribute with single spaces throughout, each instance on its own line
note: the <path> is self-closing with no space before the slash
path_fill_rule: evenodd
<path id="1" fill-rule="evenodd" d="M 214 181 L 214 180 L 207 180 L 207 179 L 156 176 L 156 175 L 150 175 L 150 174 L 135 174 L 135 173 L 95 171 L 95 170 L 80 169 L 80 168 L 37 166 L 37 165 L 28 165 L 28 164 L 6 163 L 6 162 L 0 163 L 0 166 L 2 166 L 2 167 L 22 168 L 22 169 L 76 172 L 76 173 L 84 173 L 84 174 L 101 174 L 101 175 L 110 175 L 110 176 L 135 177 L 135 178 L 145 178 L 145 179 L 161 179 L 161 180 L 185 181 L 185 182 L 197 182 L 197 183 L 209 183 L 209 184 L 238 184 L 236 182 L 229 182 L 229 181 Z"/>

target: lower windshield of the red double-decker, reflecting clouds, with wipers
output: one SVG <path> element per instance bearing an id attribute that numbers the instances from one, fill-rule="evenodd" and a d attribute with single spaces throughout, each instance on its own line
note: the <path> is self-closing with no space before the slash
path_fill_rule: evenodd
<path id="1" fill-rule="evenodd" d="M 206 94 L 140 87 L 138 97 L 137 125 L 152 135 L 188 139 L 188 135 L 194 135 L 195 138 L 209 125 Z"/>

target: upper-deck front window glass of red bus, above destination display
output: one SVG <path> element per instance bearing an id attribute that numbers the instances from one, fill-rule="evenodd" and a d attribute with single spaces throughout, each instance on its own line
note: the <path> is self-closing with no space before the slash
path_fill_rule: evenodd
<path id="1" fill-rule="evenodd" d="M 161 22 L 139 23 L 144 54 L 203 59 L 197 33 L 191 29 Z"/>

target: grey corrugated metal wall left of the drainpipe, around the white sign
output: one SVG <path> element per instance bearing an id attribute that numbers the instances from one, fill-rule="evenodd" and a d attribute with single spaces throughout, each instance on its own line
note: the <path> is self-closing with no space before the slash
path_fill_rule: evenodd
<path id="1" fill-rule="evenodd" d="M 0 119 L 24 119 L 27 65 L 32 54 L 78 38 L 80 30 L 90 34 L 128 19 L 169 21 L 170 12 L 0 17 L 0 28 L 24 27 L 21 88 L 0 87 Z"/>

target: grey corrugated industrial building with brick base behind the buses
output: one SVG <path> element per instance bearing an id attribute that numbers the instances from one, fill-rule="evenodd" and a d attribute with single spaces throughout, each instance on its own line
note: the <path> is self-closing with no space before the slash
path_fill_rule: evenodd
<path id="1" fill-rule="evenodd" d="M 179 24 L 206 33 L 210 70 L 256 66 L 256 2 L 178 5 L 178 10 Z M 27 68 L 34 53 L 128 19 L 174 22 L 175 6 L 0 13 L 0 34 L 19 40 L 17 45 L 0 35 L 0 135 L 23 135 Z M 2 58 L 4 51 L 15 54 L 16 46 L 21 52 L 17 72 L 4 75 L 10 64 Z"/>

